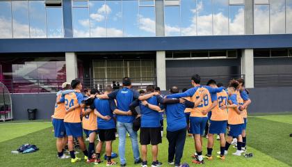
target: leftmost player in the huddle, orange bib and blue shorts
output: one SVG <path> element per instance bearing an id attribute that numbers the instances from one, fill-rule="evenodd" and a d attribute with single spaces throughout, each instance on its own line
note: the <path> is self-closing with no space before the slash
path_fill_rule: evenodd
<path id="1" fill-rule="evenodd" d="M 62 84 L 63 90 L 68 90 L 71 88 L 70 84 L 67 82 L 64 82 Z M 53 126 L 54 126 L 54 134 L 56 139 L 56 148 L 58 151 L 58 158 L 59 159 L 65 159 L 69 158 L 66 154 L 64 154 L 64 148 L 65 145 L 67 144 L 68 138 L 66 136 L 66 131 L 65 131 L 65 125 L 64 125 L 64 118 L 65 118 L 65 104 L 64 103 L 57 103 L 60 98 L 62 97 L 62 90 L 60 90 L 57 93 L 56 97 L 56 104 L 55 104 L 55 111 L 54 115 L 52 116 L 53 120 Z"/>

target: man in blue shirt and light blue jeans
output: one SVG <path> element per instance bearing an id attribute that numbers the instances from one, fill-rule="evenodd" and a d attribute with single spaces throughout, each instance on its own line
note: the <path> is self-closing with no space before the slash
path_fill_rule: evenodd
<path id="1" fill-rule="evenodd" d="M 124 77 L 122 79 L 122 88 L 115 90 L 108 95 L 97 95 L 99 99 L 112 99 L 117 102 L 117 109 L 127 113 L 129 111 L 129 105 L 134 101 L 138 100 L 139 93 L 136 90 L 131 89 L 131 79 Z M 120 115 L 116 113 L 117 118 L 117 132 L 119 134 L 119 155 L 121 166 L 126 166 L 126 159 L 124 156 L 126 134 L 130 134 L 134 164 L 140 164 L 140 152 L 138 148 L 137 132 L 133 131 L 133 116 Z"/>

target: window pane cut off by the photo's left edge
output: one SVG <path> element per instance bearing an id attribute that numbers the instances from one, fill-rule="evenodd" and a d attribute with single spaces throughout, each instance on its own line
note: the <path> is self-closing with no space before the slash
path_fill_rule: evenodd
<path id="1" fill-rule="evenodd" d="M 0 38 L 12 38 L 11 1 L 0 1 Z"/>

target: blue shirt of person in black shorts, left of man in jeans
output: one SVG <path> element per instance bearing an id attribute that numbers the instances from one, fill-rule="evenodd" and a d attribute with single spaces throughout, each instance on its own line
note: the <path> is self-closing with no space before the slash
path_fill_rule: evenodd
<path id="1" fill-rule="evenodd" d="M 111 120 L 104 120 L 97 117 L 97 127 L 98 129 L 113 129 L 115 128 L 115 121 L 113 120 L 113 110 L 115 110 L 114 100 L 101 100 L 96 98 L 90 109 L 97 109 L 97 112 L 102 114 L 102 116 L 110 116 Z"/>

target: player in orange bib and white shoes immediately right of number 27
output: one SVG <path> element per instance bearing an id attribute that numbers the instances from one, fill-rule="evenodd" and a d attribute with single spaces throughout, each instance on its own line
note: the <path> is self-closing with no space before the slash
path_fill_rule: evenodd
<path id="1" fill-rule="evenodd" d="M 232 143 L 233 137 L 237 138 L 237 150 L 234 155 L 241 156 L 241 153 L 243 152 L 241 150 L 241 145 L 243 142 L 243 138 L 241 136 L 242 128 L 243 128 L 243 117 L 241 116 L 241 111 L 238 109 L 238 98 L 236 89 L 238 87 L 239 83 L 236 80 L 232 80 L 229 82 L 228 86 L 228 94 L 229 94 L 229 100 L 231 100 L 232 104 L 227 104 L 228 109 L 228 124 L 230 127 L 230 131 L 228 133 L 228 137 L 226 139 L 225 143 L 225 153 L 227 154 L 227 150 L 229 149 L 229 146 Z M 224 107 L 222 107 L 224 109 Z"/>

